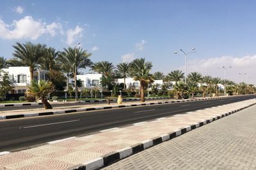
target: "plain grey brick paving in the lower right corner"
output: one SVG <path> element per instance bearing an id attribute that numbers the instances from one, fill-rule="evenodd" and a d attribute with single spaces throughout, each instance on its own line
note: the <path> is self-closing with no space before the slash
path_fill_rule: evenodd
<path id="1" fill-rule="evenodd" d="M 104 169 L 256 169 L 256 105 Z"/>

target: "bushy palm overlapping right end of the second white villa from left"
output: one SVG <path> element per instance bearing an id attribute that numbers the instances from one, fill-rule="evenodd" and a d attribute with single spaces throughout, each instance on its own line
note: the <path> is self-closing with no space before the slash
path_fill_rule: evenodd
<path id="1" fill-rule="evenodd" d="M 115 66 L 113 65 L 113 63 L 109 63 L 109 61 L 100 61 L 100 62 L 94 63 L 91 66 L 91 68 L 94 72 L 101 73 L 104 76 L 104 78 L 102 77 L 102 79 L 106 79 L 109 81 L 111 77 L 113 77 L 113 70 Z M 108 82 L 108 84 L 104 84 L 106 85 L 106 88 L 108 88 L 109 83 L 110 82 Z"/>

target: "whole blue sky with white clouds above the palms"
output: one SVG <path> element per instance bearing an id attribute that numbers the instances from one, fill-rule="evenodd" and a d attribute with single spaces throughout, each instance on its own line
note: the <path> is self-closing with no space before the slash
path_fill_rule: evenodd
<path id="1" fill-rule="evenodd" d="M 15 42 L 45 43 L 57 50 L 77 42 L 92 61 L 114 64 L 145 57 L 152 72 L 184 70 L 239 82 L 256 82 L 255 1 L 12 1 L 0 6 L 0 56 L 12 58 Z M 250 77 L 250 79 L 249 79 Z"/>

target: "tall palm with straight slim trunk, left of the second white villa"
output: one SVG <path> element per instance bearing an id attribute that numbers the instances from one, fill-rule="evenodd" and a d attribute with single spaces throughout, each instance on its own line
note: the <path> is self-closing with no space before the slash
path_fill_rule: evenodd
<path id="1" fill-rule="evenodd" d="M 76 54 L 75 54 L 76 53 Z M 88 53 L 87 50 L 83 50 L 82 48 L 72 49 L 72 47 L 68 47 L 68 49 L 63 49 L 63 52 L 60 52 L 58 54 L 59 61 L 65 65 L 66 70 L 71 70 L 71 72 L 74 74 L 74 82 L 75 82 L 75 91 L 76 91 L 76 97 L 77 97 L 77 71 L 80 68 L 86 68 L 87 66 L 92 65 L 92 61 L 90 60 L 90 56 L 92 54 Z M 77 99 L 77 98 L 76 98 Z"/>

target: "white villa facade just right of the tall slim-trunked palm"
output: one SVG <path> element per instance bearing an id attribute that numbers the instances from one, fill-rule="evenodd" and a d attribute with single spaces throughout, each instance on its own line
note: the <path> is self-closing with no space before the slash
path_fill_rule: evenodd
<path id="1" fill-rule="evenodd" d="M 84 88 L 92 89 L 92 88 L 100 88 L 100 79 L 102 77 L 101 73 L 88 73 L 85 75 L 77 75 L 77 80 L 81 80 L 83 90 Z"/>

